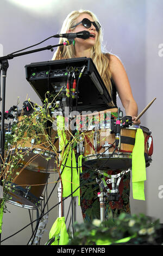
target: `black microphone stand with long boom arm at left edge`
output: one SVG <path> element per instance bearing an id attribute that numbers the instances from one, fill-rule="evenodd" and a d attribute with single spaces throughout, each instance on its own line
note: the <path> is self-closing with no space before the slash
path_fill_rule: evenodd
<path id="1" fill-rule="evenodd" d="M 0 131 L 0 163 L 1 163 L 1 170 L 2 170 L 2 164 L 4 162 L 4 144 L 5 144 L 5 132 L 4 132 L 4 119 L 5 119 L 5 85 L 6 85 L 6 77 L 7 77 L 7 70 L 9 68 L 9 59 L 13 59 L 18 56 L 23 56 L 30 53 L 45 51 L 45 50 L 51 50 L 53 51 L 54 47 L 64 46 L 64 45 L 71 45 L 72 41 L 66 41 L 62 44 L 58 45 L 48 45 L 46 47 L 38 48 L 35 50 L 27 51 L 27 52 L 21 52 L 16 54 L 8 54 L 7 56 L 0 57 L 0 64 L 2 69 L 2 115 L 1 115 L 1 131 Z M 0 77 L 1 79 L 1 77 Z M 1 89 L 1 88 L 0 88 Z M 1 173 L 1 172 L 0 172 Z M 2 191 L 3 195 L 3 188 L 2 188 L 2 175 L 0 179 L 0 192 Z M 0 195 L 1 196 L 1 195 Z M 3 196 L 2 196 L 3 198 Z M 1 245 L 1 233 L 0 233 L 0 245 Z"/>

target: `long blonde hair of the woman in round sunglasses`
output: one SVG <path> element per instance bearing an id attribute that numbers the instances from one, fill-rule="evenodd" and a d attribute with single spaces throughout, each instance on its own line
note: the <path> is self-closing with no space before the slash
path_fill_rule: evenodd
<path id="1" fill-rule="evenodd" d="M 70 30 L 74 25 L 76 25 L 76 20 L 81 14 L 89 14 L 94 21 L 98 21 L 95 14 L 93 14 L 89 10 L 75 10 L 72 11 L 70 14 L 67 15 L 60 34 L 67 33 L 68 30 Z M 73 29 L 71 29 L 73 30 Z M 103 53 L 102 52 L 102 29 L 98 32 L 98 37 L 96 44 L 92 47 L 91 51 L 91 58 L 93 60 L 93 63 L 96 65 L 96 68 L 99 72 L 99 74 L 102 77 L 102 80 L 108 89 L 108 92 L 111 95 L 112 87 L 111 87 L 111 72 L 109 69 L 109 62 L 110 62 L 110 54 L 109 53 Z M 59 44 L 62 44 L 65 40 L 63 38 L 60 38 Z M 55 59 L 69 59 L 69 58 L 75 58 L 76 52 L 73 45 L 70 46 L 60 46 L 57 48 L 57 51 L 55 51 L 52 60 Z M 114 103 L 110 102 L 109 104 L 111 107 L 114 107 Z"/>

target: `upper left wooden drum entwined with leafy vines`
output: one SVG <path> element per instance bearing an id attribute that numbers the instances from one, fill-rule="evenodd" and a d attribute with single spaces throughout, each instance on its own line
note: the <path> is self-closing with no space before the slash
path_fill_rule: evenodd
<path id="1" fill-rule="evenodd" d="M 17 121 L 18 129 L 22 130 L 22 132 L 18 133 L 17 142 L 10 146 L 11 156 L 18 150 L 23 156 L 21 163 L 27 169 L 39 170 L 45 173 L 57 172 L 56 153 L 59 148 L 57 132 L 53 131 L 51 135 L 52 127 L 41 131 L 35 125 L 36 120 L 33 116 L 23 115 L 22 111 L 18 113 Z M 14 136 L 13 131 L 12 135 Z M 51 143 L 53 143 L 53 149 Z"/>

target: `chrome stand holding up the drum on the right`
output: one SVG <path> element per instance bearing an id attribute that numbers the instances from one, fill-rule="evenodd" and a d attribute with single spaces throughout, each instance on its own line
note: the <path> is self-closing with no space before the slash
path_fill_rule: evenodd
<path id="1" fill-rule="evenodd" d="M 107 180 L 104 178 L 97 179 L 96 182 L 99 185 L 99 190 L 97 196 L 99 197 L 99 207 L 100 207 L 100 218 L 101 222 L 106 220 L 105 216 L 105 202 L 106 199 L 109 201 L 118 201 L 118 198 L 120 197 L 119 195 L 119 190 L 118 186 L 120 185 L 120 181 L 124 174 L 127 172 L 130 172 L 130 169 L 128 170 L 122 170 L 121 173 L 115 174 L 115 175 L 110 175 L 104 173 L 102 170 L 97 170 L 97 172 L 101 175 L 107 176 Z M 111 184 L 111 189 L 108 187 L 107 184 Z"/>

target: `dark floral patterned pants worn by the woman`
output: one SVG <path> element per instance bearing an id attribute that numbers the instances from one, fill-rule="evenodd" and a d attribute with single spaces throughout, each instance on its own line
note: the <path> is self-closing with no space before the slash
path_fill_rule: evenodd
<path id="1" fill-rule="evenodd" d="M 112 170 L 108 171 L 108 174 L 118 174 Z M 96 182 L 97 175 L 92 169 L 84 169 L 80 174 L 80 205 L 82 208 L 82 215 L 84 221 L 92 221 L 93 219 L 100 219 L 99 198 L 97 193 L 99 192 L 99 185 Z M 104 176 L 103 176 L 104 178 Z M 107 179 L 107 178 L 106 178 Z M 109 187 L 110 184 L 108 184 Z M 111 188 L 111 187 L 109 187 Z M 124 174 L 121 178 L 120 185 L 118 187 L 119 198 L 118 201 L 105 201 L 105 217 L 106 219 L 114 220 L 121 212 L 130 214 L 130 172 Z"/>

